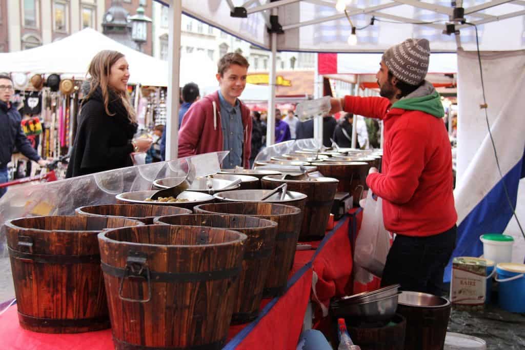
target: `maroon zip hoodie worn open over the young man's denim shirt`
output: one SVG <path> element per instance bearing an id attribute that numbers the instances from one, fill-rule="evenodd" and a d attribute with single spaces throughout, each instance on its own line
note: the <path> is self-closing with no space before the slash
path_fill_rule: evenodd
<path id="1" fill-rule="evenodd" d="M 250 110 L 240 100 L 239 104 L 244 129 L 243 166 L 249 168 L 251 152 Z M 215 91 L 213 94 L 193 102 L 184 115 L 182 126 L 178 130 L 178 157 L 222 150 L 223 129 L 220 127 L 219 92 Z"/>

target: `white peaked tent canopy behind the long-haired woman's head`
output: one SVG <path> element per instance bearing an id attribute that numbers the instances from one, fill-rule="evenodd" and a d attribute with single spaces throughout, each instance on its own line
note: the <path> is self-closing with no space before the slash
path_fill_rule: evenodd
<path id="1" fill-rule="evenodd" d="M 123 53 L 130 65 L 131 84 L 167 86 L 167 61 L 153 58 L 86 28 L 57 42 L 28 50 L 2 53 L 2 71 L 66 74 L 84 78 L 93 56 L 101 50 Z"/>

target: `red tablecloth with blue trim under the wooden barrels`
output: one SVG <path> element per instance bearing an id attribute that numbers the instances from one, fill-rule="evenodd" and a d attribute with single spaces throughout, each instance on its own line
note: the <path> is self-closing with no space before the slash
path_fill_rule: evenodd
<path id="1" fill-rule="evenodd" d="M 359 214 L 359 213 L 358 213 Z M 309 242 L 316 250 L 297 251 L 287 292 L 264 300 L 257 320 L 232 326 L 225 349 L 295 349 L 310 296 L 327 306 L 330 298 L 352 291 L 352 250 L 360 215 L 346 215 L 323 241 Z M 352 218 L 354 221 L 352 221 Z M 354 224 L 355 223 L 355 224 Z M 314 293 L 312 291 L 312 281 Z M 44 334 L 18 325 L 16 306 L 0 316 L 1 348 L 13 350 L 112 349 L 111 331 Z"/>

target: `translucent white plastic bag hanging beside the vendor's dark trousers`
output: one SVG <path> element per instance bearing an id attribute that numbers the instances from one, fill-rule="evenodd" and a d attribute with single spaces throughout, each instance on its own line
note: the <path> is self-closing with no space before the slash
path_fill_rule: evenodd
<path id="1" fill-rule="evenodd" d="M 383 200 L 372 197 L 368 191 L 363 210 L 363 221 L 355 241 L 354 264 L 374 274 L 383 275 L 386 255 L 390 250 L 390 233 L 383 223 Z"/>

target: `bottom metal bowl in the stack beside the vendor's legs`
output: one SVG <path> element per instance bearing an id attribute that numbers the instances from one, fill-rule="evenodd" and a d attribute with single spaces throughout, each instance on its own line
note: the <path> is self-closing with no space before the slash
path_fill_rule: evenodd
<path id="1" fill-rule="evenodd" d="M 355 317 L 365 322 L 388 321 L 395 315 L 400 293 L 364 303 L 334 303 L 332 310 L 337 317 Z"/>

